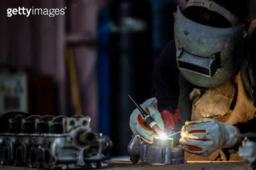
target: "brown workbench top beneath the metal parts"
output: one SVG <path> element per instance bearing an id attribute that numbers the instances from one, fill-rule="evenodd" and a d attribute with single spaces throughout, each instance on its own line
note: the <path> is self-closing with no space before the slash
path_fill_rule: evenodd
<path id="1" fill-rule="evenodd" d="M 0 166 L 0 170 L 38 170 L 28 167 Z M 179 165 L 152 165 L 152 164 L 132 164 L 130 161 L 111 161 L 110 167 L 103 169 L 145 169 L 145 170 L 170 170 L 170 169 L 232 169 L 232 170 L 249 170 L 251 169 L 247 162 L 244 161 L 188 161 L 187 164 Z"/>

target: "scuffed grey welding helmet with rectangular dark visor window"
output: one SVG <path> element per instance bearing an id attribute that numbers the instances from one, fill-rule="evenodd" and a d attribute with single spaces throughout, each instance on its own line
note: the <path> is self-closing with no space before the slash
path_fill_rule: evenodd
<path id="1" fill-rule="evenodd" d="M 191 0 L 188 6 L 201 6 L 220 13 L 231 27 L 212 27 L 174 13 L 177 66 L 185 79 L 199 87 L 216 87 L 237 74 L 243 59 L 244 25 L 232 13 L 208 0 Z"/>

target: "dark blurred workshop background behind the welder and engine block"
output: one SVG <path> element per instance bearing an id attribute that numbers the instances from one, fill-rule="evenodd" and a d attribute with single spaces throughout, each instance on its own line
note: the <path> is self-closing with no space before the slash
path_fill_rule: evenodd
<path id="1" fill-rule="evenodd" d="M 154 61 L 173 38 L 178 4 L 185 0 L 1 0 L 0 98 L 17 101 L 1 77 L 22 89 L 22 77 L 12 77 L 22 73 L 29 95 L 21 111 L 90 116 L 92 130 L 112 138 L 112 155 L 126 155 L 134 109 L 127 95 L 140 103 L 152 97 Z M 255 1 L 242 5 L 254 19 Z M 18 6 L 66 10 L 64 16 L 6 17 L 6 9 Z M 9 106 L 4 110 L 20 108 Z"/>

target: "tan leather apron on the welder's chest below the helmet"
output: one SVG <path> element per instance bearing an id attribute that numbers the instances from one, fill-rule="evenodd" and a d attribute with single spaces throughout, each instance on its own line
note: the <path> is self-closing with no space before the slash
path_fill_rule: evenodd
<path id="1" fill-rule="evenodd" d="M 247 97 L 241 82 L 240 73 L 231 81 L 219 87 L 202 90 L 194 88 L 190 94 L 192 103 L 191 120 L 214 118 L 218 121 L 235 124 L 254 118 L 253 101 Z"/>

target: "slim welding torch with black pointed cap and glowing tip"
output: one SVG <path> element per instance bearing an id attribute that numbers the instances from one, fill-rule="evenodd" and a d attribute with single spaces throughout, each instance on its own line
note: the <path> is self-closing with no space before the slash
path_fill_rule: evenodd
<path id="1" fill-rule="evenodd" d="M 158 136 L 160 137 L 166 137 L 166 134 L 159 128 L 159 126 L 157 125 L 156 121 L 154 121 L 153 117 L 150 116 L 139 104 L 137 104 L 130 95 L 128 95 L 130 97 L 130 99 L 132 100 L 132 102 L 136 105 L 136 107 L 138 108 L 140 114 L 142 114 L 145 122 L 147 125 L 150 126 L 150 128 L 153 129 L 154 132 L 156 132 L 158 134 Z"/>

